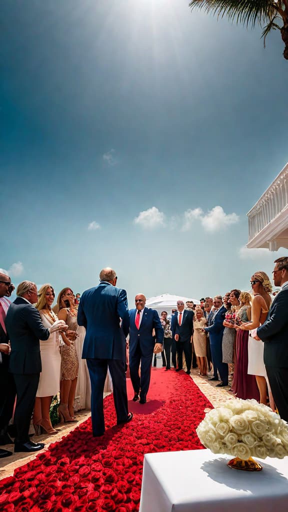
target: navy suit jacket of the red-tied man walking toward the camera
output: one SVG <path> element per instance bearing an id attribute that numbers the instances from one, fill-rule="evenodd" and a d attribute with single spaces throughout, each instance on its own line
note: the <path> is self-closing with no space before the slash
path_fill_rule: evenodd
<path id="1" fill-rule="evenodd" d="M 163 343 L 164 330 L 156 309 L 144 308 L 139 330 L 135 325 L 136 308 L 129 311 L 129 352 L 133 355 L 138 342 L 143 356 L 152 356 L 155 343 Z M 155 329 L 155 336 L 152 335 Z"/>

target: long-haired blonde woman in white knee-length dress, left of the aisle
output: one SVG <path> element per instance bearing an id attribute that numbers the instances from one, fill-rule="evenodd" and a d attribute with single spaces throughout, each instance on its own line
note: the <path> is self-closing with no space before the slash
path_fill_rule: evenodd
<path id="1" fill-rule="evenodd" d="M 39 310 L 44 326 L 48 329 L 58 320 L 51 309 L 54 297 L 54 289 L 50 284 L 43 285 L 39 289 L 36 308 Z M 68 339 L 67 343 L 70 344 Z M 33 413 L 36 434 L 40 434 L 42 430 L 47 434 L 56 434 L 57 432 L 51 424 L 50 406 L 53 396 L 57 395 L 60 389 L 61 356 L 59 346 L 58 332 L 52 332 L 46 341 L 40 340 L 42 372 L 40 373 Z"/>

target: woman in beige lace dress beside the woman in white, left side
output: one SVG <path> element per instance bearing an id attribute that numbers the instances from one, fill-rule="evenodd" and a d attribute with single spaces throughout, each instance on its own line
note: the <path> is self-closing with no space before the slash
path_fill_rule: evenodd
<path id="1" fill-rule="evenodd" d="M 75 308 L 74 294 L 71 288 L 63 288 L 57 298 L 58 318 L 67 323 L 69 329 L 77 331 L 77 309 Z M 79 361 L 74 341 L 67 344 L 65 334 L 62 334 L 65 345 L 61 346 L 61 381 L 60 381 L 60 404 L 58 414 L 61 423 L 73 422 L 74 399 L 77 385 Z"/>

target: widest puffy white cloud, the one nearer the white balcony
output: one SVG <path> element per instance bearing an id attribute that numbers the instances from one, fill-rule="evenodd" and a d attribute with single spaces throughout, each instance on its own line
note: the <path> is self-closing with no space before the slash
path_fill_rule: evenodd
<path id="1" fill-rule="evenodd" d="M 225 214 L 222 206 L 214 206 L 214 208 L 205 215 L 201 208 L 195 208 L 194 210 L 189 209 L 184 212 L 184 225 L 182 230 L 189 230 L 195 220 L 200 220 L 206 231 L 215 232 L 231 224 L 235 224 L 239 221 L 239 217 L 234 213 Z"/>

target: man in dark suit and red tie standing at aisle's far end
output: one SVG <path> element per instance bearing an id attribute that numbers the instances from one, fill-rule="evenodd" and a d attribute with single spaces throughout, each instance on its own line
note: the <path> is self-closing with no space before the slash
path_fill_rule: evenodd
<path id="1" fill-rule="evenodd" d="M 192 363 L 192 335 L 193 335 L 193 316 L 194 311 L 184 309 L 183 301 L 177 301 L 177 311 L 171 318 L 171 330 L 173 340 L 175 341 L 176 350 L 178 353 L 178 368 L 179 372 L 183 368 L 183 352 L 185 354 L 187 371 L 190 375 Z"/>

